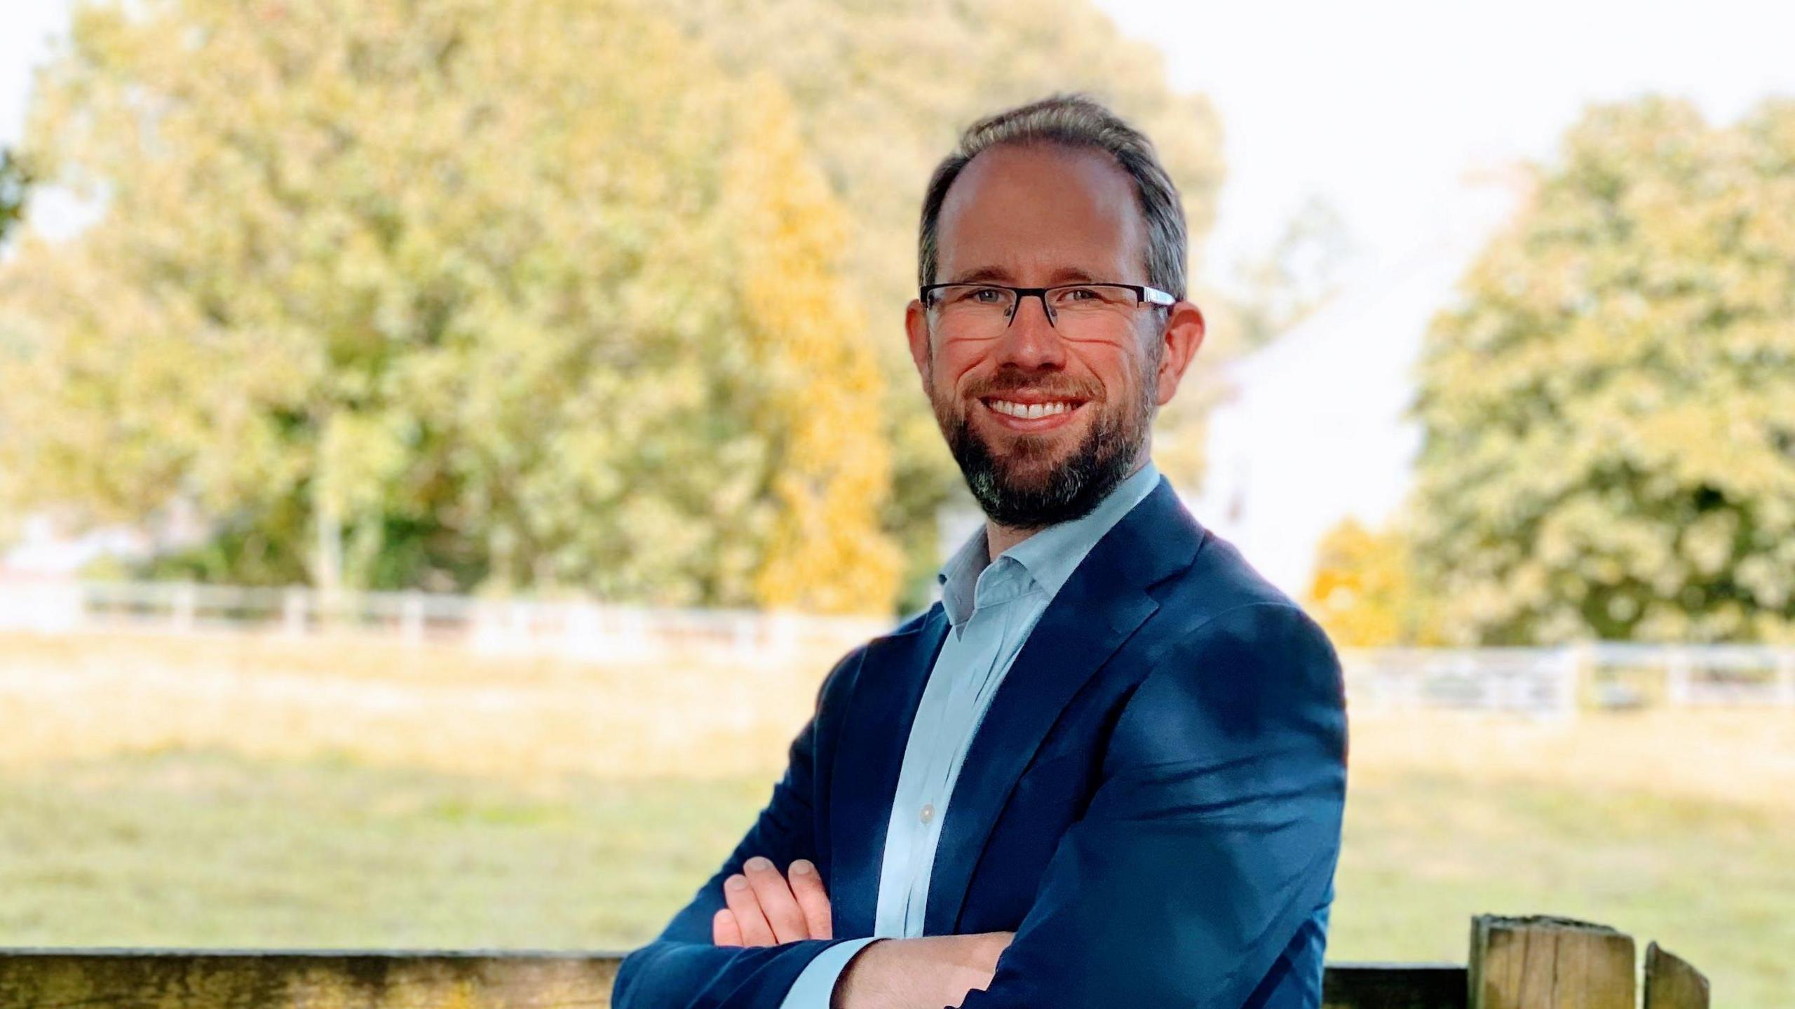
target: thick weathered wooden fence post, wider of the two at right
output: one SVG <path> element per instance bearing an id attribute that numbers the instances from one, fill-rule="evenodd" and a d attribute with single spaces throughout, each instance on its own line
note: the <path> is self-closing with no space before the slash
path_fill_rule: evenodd
<path id="1" fill-rule="evenodd" d="M 1470 1009 L 1633 1009 L 1633 937 L 1565 917 L 1479 914 Z"/>

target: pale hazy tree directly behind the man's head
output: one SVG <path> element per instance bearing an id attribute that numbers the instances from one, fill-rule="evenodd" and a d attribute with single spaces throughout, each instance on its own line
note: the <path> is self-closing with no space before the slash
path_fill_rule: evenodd
<path id="1" fill-rule="evenodd" d="M 671 0 L 662 9 L 732 72 L 766 70 L 784 84 L 824 176 L 853 214 L 844 250 L 887 375 L 881 413 L 898 474 L 885 521 L 906 546 L 905 605 L 917 607 L 941 564 L 935 513 L 960 485 L 901 325 L 915 294 L 928 172 L 975 118 L 1084 90 L 1154 138 L 1183 192 L 1195 250 L 1215 219 L 1221 122 L 1206 99 L 1169 86 L 1151 41 L 1122 38 L 1091 0 Z M 1233 332 L 1215 321 L 1222 332 L 1212 334 L 1199 372 L 1226 352 Z M 1204 411 L 1199 397 L 1174 406 L 1160 417 L 1165 438 L 1156 449 L 1170 452 L 1169 472 L 1190 485 Z"/>

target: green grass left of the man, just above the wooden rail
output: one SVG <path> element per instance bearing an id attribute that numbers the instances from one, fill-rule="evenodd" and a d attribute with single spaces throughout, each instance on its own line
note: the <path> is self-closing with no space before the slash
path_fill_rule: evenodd
<path id="1" fill-rule="evenodd" d="M 0 776 L 0 944 L 628 948 L 765 781 L 495 779 L 217 752 Z"/>

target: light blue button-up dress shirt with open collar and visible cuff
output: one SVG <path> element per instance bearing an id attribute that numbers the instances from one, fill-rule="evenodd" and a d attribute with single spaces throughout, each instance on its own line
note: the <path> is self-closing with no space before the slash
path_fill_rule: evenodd
<path id="1" fill-rule="evenodd" d="M 1149 461 L 1088 515 L 1048 526 L 996 560 L 989 560 L 991 548 L 980 526 L 935 575 L 950 632 L 923 688 L 898 772 L 872 935 L 819 953 L 792 982 L 781 1009 L 829 1009 L 835 982 L 854 953 L 880 939 L 923 935 L 948 799 L 998 684 L 1084 555 L 1158 483 L 1160 470 Z"/>

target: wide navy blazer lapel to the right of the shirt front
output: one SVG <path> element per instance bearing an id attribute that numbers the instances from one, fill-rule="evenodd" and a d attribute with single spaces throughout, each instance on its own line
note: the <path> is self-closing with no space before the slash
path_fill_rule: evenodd
<path id="1" fill-rule="evenodd" d="M 1097 542 L 1048 603 L 998 686 L 996 697 L 991 698 L 991 707 L 960 765 L 941 828 L 941 844 L 935 847 L 923 919 L 924 935 L 953 934 L 973 867 L 1016 779 L 1079 688 L 1142 621 L 1160 609 L 1147 589 L 1190 567 L 1201 535 L 1201 526 L 1179 504 L 1172 485 L 1161 479 Z M 926 675 L 928 668 L 923 670 L 923 677 Z M 914 718 L 914 698 L 905 711 L 906 718 Z M 890 758 L 890 786 L 878 794 L 885 813 L 896 790 L 896 761 L 903 759 L 908 736 L 906 720 L 905 731 L 896 736 L 896 756 Z M 869 736 L 860 738 L 869 740 Z M 885 824 L 887 817 L 880 815 L 880 833 L 885 831 Z M 872 889 L 878 887 L 876 873 L 878 862 L 874 862 Z"/>

